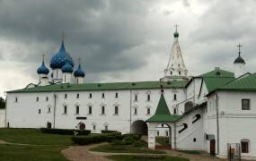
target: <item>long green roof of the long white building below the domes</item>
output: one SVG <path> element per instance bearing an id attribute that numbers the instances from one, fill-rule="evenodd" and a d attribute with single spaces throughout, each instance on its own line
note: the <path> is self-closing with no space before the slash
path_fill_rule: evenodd
<path id="1" fill-rule="evenodd" d="M 184 88 L 187 80 L 172 80 L 166 83 L 160 81 L 84 83 L 84 84 L 54 84 L 34 88 L 17 89 L 7 93 L 52 92 L 52 91 L 86 91 L 86 90 L 122 90 L 122 89 L 173 89 Z"/>

